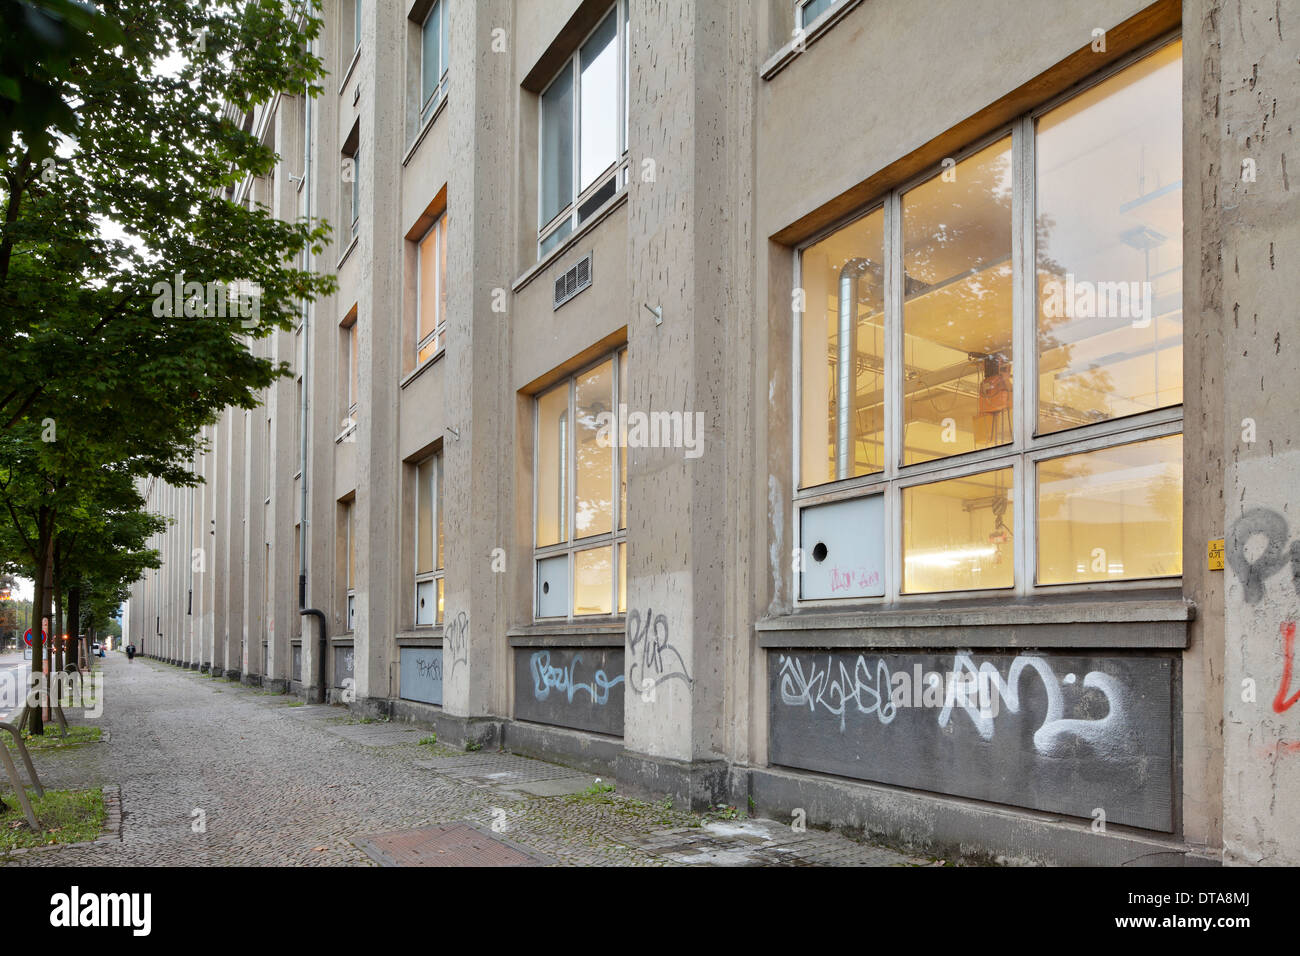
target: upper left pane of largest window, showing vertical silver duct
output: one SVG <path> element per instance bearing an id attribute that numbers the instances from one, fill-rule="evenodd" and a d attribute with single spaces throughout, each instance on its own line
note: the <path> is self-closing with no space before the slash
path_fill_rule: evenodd
<path id="1" fill-rule="evenodd" d="M 884 467 L 884 219 L 876 209 L 801 259 L 803 488 Z"/>

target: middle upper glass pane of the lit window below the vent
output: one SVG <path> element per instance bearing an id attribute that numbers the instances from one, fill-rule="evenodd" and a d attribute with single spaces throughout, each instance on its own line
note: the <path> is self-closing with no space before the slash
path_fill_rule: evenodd
<path id="1" fill-rule="evenodd" d="M 614 454 L 608 434 L 614 408 L 614 363 L 602 362 L 577 377 L 573 464 L 573 537 L 614 529 Z"/>

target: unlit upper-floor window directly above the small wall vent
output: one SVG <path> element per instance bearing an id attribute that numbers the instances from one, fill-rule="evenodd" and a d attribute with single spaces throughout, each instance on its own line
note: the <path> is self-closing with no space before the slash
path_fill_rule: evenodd
<path id="1" fill-rule="evenodd" d="M 628 183 L 628 4 L 619 0 L 541 98 L 538 252 Z"/>

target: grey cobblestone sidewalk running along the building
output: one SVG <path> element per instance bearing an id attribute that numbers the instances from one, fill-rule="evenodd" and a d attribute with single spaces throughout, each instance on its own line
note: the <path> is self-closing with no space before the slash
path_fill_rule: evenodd
<path id="1" fill-rule="evenodd" d="M 48 787 L 120 786 L 121 840 L 9 865 L 373 866 L 374 835 L 454 823 L 563 865 L 930 862 L 837 834 L 630 800 L 567 767 L 421 744 L 429 731 L 360 723 L 343 708 L 156 661 L 110 654 L 100 665 L 108 740 L 42 754 L 38 770 Z"/>

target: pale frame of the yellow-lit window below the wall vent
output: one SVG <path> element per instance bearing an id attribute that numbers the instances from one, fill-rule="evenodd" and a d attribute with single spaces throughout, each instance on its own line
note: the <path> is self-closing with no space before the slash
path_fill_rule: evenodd
<path id="1" fill-rule="evenodd" d="M 532 518 L 532 523 L 533 523 L 533 554 L 532 554 L 532 572 L 530 572 L 530 576 L 532 576 L 532 581 L 533 581 L 533 597 L 532 597 L 533 620 L 537 622 L 537 623 L 601 622 L 601 620 L 623 618 L 624 614 L 625 614 L 625 611 L 620 611 L 619 610 L 619 597 L 620 597 L 619 596 L 619 583 L 620 583 L 619 567 L 620 567 L 620 554 L 625 555 L 625 549 L 628 546 L 627 514 L 625 514 L 625 510 L 623 509 L 623 463 L 624 463 L 624 459 L 627 457 L 627 447 L 624 447 L 624 442 L 621 441 L 623 428 L 624 428 L 625 423 L 621 421 L 621 420 L 619 420 L 619 412 L 620 412 L 619 406 L 624 401 L 623 399 L 624 390 L 623 390 L 623 381 L 621 381 L 621 372 L 620 372 L 620 358 L 623 355 L 625 355 L 627 351 L 628 351 L 628 346 L 627 345 L 620 345 L 618 349 L 614 349 L 612 351 L 607 351 L 607 352 L 602 354 L 594 362 L 589 362 L 589 363 L 584 364 L 581 368 L 577 368 L 576 371 L 566 375 L 559 381 L 552 382 L 550 386 L 547 386 L 547 388 L 542 389 L 541 392 L 537 392 L 536 394 L 532 395 L 532 399 L 533 399 L 533 483 L 532 483 L 533 484 L 533 518 Z M 615 440 L 614 440 L 615 454 L 612 455 L 612 459 L 611 459 L 611 498 L 610 498 L 610 506 L 611 506 L 611 515 L 610 515 L 611 522 L 610 522 L 610 524 L 611 524 L 611 527 L 610 527 L 610 531 L 607 531 L 607 532 L 601 532 L 598 535 L 588 535 L 588 536 L 585 536 L 582 538 L 577 538 L 577 537 L 575 537 L 575 524 L 576 524 L 576 511 L 577 511 L 577 509 L 575 507 L 575 501 L 576 501 L 576 494 L 577 494 L 577 490 L 576 490 L 577 489 L 577 463 L 576 463 L 576 459 L 575 459 L 575 446 L 576 446 L 577 442 L 572 440 L 572 436 L 576 432 L 575 425 L 573 425 L 573 420 L 575 420 L 576 411 L 577 411 L 576 410 L 577 380 L 581 378 L 588 372 L 590 372 L 593 368 L 603 365 L 606 362 L 611 363 L 611 372 L 610 372 L 610 376 L 611 376 L 611 380 L 612 380 L 611 381 L 611 393 L 612 393 L 611 397 L 614 398 L 614 415 L 615 415 L 615 425 L 614 425 L 615 427 Z M 568 434 L 571 436 L 569 441 L 566 442 L 566 449 L 564 449 L 564 457 L 566 457 L 564 467 L 567 470 L 566 498 L 564 498 L 564 524 L 566 524 L 564 540 L 563 541 L 558 541 L 558 542 L 551 544 L 551 545 L 538 546 L 538 544 L 537 544 L 537 485 L 538 485 L 540 471 L 538 471 L 537 453 L 538 453 L 538 449 L 540 449 L 540 444 L 538 442 L 540 442 L 540 437 L 541 437 L 541 434 L 540 434 L 540 432 L 541 432 L 541 428 L 540 428 L 541 427 L 541 421 L 540 421 L 538 410 L 541 407 L 541 399 L 545 395 L 549 395 L 552 392 L 555 392 L 556 389 L 562 389 L 562 388 L 568 392 L 568 419 L 567 419 L 567 421 L 569 423 L 568 424 Z M 577 554 L 580 554 L 582 551 L 598 550 L 601 548 L 610 548 L 610 562 L 611 562 L 610 563 L 610 568 L 611 568 L 611 575 L 610 575 L 610 578 L 611 578 L 611 601 L 610 601 L 610 609 L 611 610 L 610 610 L 608 614 L 575 614 L 573 613 L 573 566 L 575 566 L 575 555 L 577 555 Z M 566 614 L 563 617 L 560 617 L 560 615 L 541 617 L 538 614 L 540 609 L 538 609 L 538 601 L 537 601 L 537 581 L 538 581 L 537 566 L 541 562 L 543 562 L 543 561 L 546 561 L 549 558 L 556 558 L 556 557 L 560 557 L 560 555 L 567 555 L 568 557 L 568 593 L 566 596 L 567 611 L 566 611 Z M 624 559 L 625 559 L 625 557 L 624 557 Z"/>

